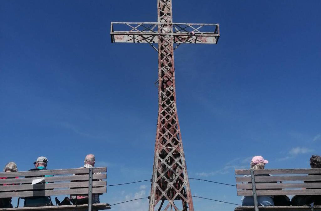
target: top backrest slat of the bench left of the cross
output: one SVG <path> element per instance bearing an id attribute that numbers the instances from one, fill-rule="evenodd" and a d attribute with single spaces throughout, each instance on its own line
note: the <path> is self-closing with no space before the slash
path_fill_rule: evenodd
<path id="1" fill-rule="evenodd" d="M 88 168 L 71 168 L 58 170 L 42 170 L 42 171 L 20 171 L 20 172 L 5 172 L 0 173 L 0 177 L 16 177 L 16 176 L 41 176 L 41 175 L 61 175 L 61 174 L 85 174 L 88 173 Z M 93 168 L 92 172 L 106 172 L 107 167 Z"/>

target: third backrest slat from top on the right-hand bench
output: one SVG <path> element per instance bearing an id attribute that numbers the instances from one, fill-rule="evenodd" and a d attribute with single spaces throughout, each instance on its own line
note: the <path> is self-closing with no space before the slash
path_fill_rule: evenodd
<path id="1" fill-rule="evenodd" d="M 236 184 L 237 189 L 252 189 L 252 184 Z M 256 189 L 321 188 L 321 183 L 256 183 Z"/>

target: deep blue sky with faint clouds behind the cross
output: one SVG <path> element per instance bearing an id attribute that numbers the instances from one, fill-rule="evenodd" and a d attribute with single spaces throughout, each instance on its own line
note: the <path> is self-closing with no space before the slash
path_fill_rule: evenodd
<path id="1" fill-rule="evenodd" d="M 173 21 L 220 23 L 218 45 L 175 51 L 177 107 L 190 177 L 235 183 L 267 168 L 305 168 L 321 143 L 320 1 L 173 1 Z M 1 1 L 0 166 L 38 156 L 49 169 L 108 166 L 108 184 L 151 178 L 157 53 L 112 44 L 110 21 L 156 21 L 156 0 Z M 193 195 L 239 203 L 236 189 L 190 181 Z M 108 188 L 102 202 L 149 196 Z M 148 200 L 113 207 L 147 210 Z M 231 210 L 194 199 L 195 210 Z"/>

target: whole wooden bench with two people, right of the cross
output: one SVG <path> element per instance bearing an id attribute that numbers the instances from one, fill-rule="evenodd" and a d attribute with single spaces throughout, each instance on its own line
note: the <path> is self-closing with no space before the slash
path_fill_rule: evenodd
<path id="1" fill-rule="evenodd" d="M 314 211 L 321 211 L 321 206 L 258 206 L 257 204 L 257 196 L 321 195 L 321 169 L 235 170 L 235 175 L 238 196 L 253 196 L 254 198 L 254 206 L 236 207 L 235 211 L 303 211 L 312 208 Z"/>

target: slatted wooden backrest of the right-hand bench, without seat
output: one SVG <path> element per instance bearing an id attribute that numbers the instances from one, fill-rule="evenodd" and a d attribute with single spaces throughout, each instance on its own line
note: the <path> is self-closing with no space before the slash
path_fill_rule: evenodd
<path id="1" fill-rule="evenodd" d="M 321 169 L 259 169 L 253 173 L 257 196 L 321 195 Z M 235 170 L 235 174 L 238 195 L 253 196 L 250 170 Z"/>

